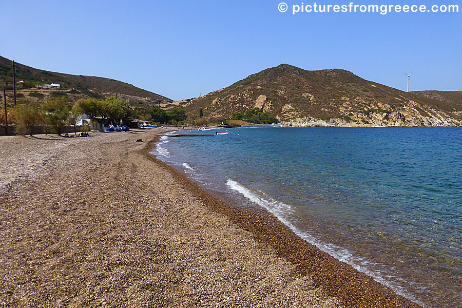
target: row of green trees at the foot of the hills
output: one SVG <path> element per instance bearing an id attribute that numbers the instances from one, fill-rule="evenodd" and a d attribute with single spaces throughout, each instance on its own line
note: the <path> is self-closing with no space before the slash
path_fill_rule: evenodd
<path id="1" fill-rule="evenodd" d="M 157 124 L 176 125 L 207 125 L 209 119 L 203 116 L 202 109 L 199 111 L 199 118 L 189 119 L 182 109 L 172 108 L 169 110 L 152 106 L 144 110 L 144 119 Z M 45 131 L 62 133 L 66 126 L 74 126 L 86 114 L 99 130 L 103 131 L 111 120 L 139 118 L 140 112 L 132 109 L 128 102 L 121 98 L 110 97 L 104 100 L 95 98 L 80 99 L 75 103 L 69 103 L 67 98 L 58 97 L 47 100 L 39 105 L 30 98 L 22 98 L 20 104 L 8 110 L 9 123 L 16 123 L 18 134 L 32 134 L 37 132 L 37 125 L 43 126 Z M 5 123 L 3 113 L 0 115 L 0 122 Z M 263 112 L 262 109 L 254 108 L 243 112 L 232 113 L 232 120 L 243 120 L 256 124 L 276 123 L 277 119 L 272 115 Z M 3 121 L 2 121 L 3 120 Z M 225 122 L 226 119 L 216 120 L 216 123 Z M 84 130 L 89 127 L 84 128 Z M 38 127 L 40 130 L 40 127 Z M 74 130 L 75 131 L 75 130 Z"/>

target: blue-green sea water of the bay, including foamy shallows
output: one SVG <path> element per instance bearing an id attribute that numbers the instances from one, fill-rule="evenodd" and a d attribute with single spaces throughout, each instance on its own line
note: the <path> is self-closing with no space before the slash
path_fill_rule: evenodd
<path id="1" fill-rule="evenodd" d="M 155 153 L 403 296 L 462 306 L 462 128 L 229 131 Z"/>

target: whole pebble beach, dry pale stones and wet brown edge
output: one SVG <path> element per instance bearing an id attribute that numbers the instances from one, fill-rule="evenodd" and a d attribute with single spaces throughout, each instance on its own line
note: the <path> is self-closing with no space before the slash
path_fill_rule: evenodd
<path id="1" fill-rule="evenodd" d="M 155 159 L 164 132 L 0 137 L 0 306 L 417 307 Z"/>

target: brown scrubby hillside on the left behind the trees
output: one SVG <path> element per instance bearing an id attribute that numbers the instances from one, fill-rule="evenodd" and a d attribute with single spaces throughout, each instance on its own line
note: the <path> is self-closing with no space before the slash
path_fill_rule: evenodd
<path id="1" fill-rule="evenodd" d="M 24 85 L 27 87 L 34 87 L 36 84 L 60 84 L 64 87 L 62 90 L 70 91 L 67 93 L 69 96 L 74 95 L 77 98 L 103 98 L 118 94 L 132 102 L 143 100 L 166 103 L 172 101 L 162 95 L 113 79 L 50 72 L 20 63 L 15 63 L 15 67 L 16 82 L 24 80 Z M 5 85 L 5 82 L 10 84 L 13 82 L 12 64 L 11 60 L 0 56 L 0 85 Z M 19 85 L 19 88 L 21 89 L 22 85 Z M 71 91 L 72 89 L 74 90 Z"/>

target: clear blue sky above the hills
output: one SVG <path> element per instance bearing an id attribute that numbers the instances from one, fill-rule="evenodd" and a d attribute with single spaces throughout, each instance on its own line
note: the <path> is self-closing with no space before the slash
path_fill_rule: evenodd
<path id="1" fill-rule="evenodd" d="M 128 82 L 180 100 L 281 63 L 342 68 L 411 90 L 462 90 L 459 13 L 299 13 L 279 0 L 6 1 L 0 55 L 35 68 Z M 350 1 L 316 1 L 348 4 Z M 355 4 L 370 4 L 368 0 Z M 377 0 L 374 4 L 459 4 Z"/>

